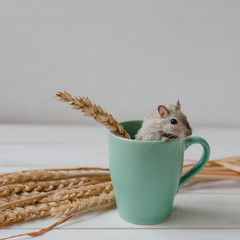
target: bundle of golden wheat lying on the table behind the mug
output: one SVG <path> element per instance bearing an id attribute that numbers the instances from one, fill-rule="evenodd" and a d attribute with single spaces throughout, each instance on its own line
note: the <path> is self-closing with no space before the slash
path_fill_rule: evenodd
<path id="1" fill-rule="evenodd" d="M 183 166 L 183 173 L 194 164 Z M 240 157 L 209 161 L 191 181 L 240 180 Z M 0 226 L 116 205 L 110 173 L 102 168 L 46 169 L 0 175 Z"/>

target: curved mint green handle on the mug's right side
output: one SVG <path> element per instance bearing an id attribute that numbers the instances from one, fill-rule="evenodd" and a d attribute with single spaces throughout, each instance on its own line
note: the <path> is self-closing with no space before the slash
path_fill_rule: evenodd
<path id="1" fill-rule="evenodd" d="M 208 143 L 201 137 L 189 137 L 184 140 L 185 150 L 189 148 L 192 144 L 201 144 L 203 147 L 203 153 L 201 159 L 194 165 L 189 171 L 187 171 L 183 176 L 181 176 L 179 181 L 178 190 L 192 177 L 194 177 L 207 163 L 210 155 L 210 147 Z"/>

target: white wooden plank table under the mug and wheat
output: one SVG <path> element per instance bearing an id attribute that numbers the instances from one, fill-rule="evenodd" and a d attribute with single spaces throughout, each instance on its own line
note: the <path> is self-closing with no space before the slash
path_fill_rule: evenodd
<path id="1" fill-rule="evenodd" d="M 211 159 L 240 155 L 240 129 L 198 128 Z M 199 159 L 200 146 L 186 158 Z M 107 131 L 93 126 L 0 125 L 0 172 L 62 167 L 108 167 Z M 0 238 L 37 231 L 56 219 L 34 220 L 0 229 Z M 29 239 L 22 237 L 21 239 Z M 117 210 L 86 214 L 39 239 L 240 239 L 240 182 L 215 181 L 185 186 L 171 217 L 156 225 L 124 222 Z"/>

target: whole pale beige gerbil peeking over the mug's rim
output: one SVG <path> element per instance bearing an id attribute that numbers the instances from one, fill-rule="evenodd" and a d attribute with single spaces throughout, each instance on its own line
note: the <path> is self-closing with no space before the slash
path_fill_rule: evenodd
<path id="1" fill-rule="evenodd" d="M 136 140 L 163 140 L 170 138 L 186 138 L 192 135 L 192 129 L 187 117 L 182 113 L 180 102 L 176 105 L 159 105 L 150 112 L 143 121 L 142 127 L 136 134 Z"/>

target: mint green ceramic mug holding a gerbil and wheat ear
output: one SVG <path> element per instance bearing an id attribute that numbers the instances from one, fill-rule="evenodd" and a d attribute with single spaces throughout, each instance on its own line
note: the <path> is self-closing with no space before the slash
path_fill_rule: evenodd
<path id="1" fill-rule="evenodd" d="M 134 138 L 142 121 L 121 123 Z M 184 151 L 201 144 L 199 162 L 181 176 Z M 172 139 L 168 143 L 139 141 L 108 135 L 109 168 L 120 217 L 136 224 L 154 224 L 169 217 L 174 196 L 207 163 L 210 149 L 200 137 Z"/>

